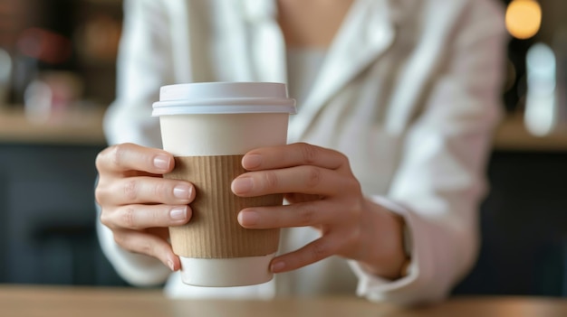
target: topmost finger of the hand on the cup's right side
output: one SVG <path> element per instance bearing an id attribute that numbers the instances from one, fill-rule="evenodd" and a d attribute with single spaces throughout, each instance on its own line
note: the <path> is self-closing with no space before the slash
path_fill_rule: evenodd
<path id="1" fill-rule="evenodd" d="M 299 165 L 313 165 L 336 170 L 348 159 L 337 151 L 306 143 L 264 147 L 245 154 L 242 166 L 248 171 L 270 170 Z"/>

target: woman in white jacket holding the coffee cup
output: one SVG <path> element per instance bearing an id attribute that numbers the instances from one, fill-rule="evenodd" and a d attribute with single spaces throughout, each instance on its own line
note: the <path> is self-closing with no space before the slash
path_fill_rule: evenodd
<path id="1" fill-rule="evenodd" d="M 116 101 L 97 158 L 101 245 L 131 284 L 175 297 L 354 292 L 431 303 L 474 264 L 485 161 L 500 117 L 503 12 L 490 0 L 126 1 Z M 274 281 L 181 284 L 168 226 L 190 221 L 192 185 L 150 117 L 159 87 L 288 83 L 289 143 L 245 155 L 245 228 L 286 228 Z M 301 143 L 298 143 L 301 142 Z M 263 182 L 269 174 L 277 182 Z M 313 230 L 315 228 L 315 230 Z M 171 275 L 171 276 L 170 276 Z"/>

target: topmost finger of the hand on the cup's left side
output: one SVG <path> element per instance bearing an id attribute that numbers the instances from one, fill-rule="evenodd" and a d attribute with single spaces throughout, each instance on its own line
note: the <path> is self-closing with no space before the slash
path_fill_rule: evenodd
<path id="1" fill-rule="evenodd" d="M 99 172 L 142 171 L 163 174 L 173 169 L 173 156 L 166 151 L 134 144 L 112 145 L 96 158 Z"/>

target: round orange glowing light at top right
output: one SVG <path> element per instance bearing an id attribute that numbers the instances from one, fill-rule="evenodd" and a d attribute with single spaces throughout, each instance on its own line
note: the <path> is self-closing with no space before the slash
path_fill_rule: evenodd
<path id="1" fill-rule="evenodd" d="M 505 23 L 516 39 L 529 39 L 540 30 L 542 7 L 534 0 L 514 0 L 506 9 Z"/>

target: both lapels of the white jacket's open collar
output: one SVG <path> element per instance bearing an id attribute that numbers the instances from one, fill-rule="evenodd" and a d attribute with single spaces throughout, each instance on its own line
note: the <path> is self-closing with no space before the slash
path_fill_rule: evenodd
<path id="1" fill-rule="evenodd" d="M 256 79 L 287 82 L 285 44 L 277 24 L 276 0 L 242 0 L 246 20 L 253 23 Z M 398 0 L 400 1 L 400 0 Z M 294 117 L 290 138 L 302 138 L 323 105 L 362 70 L 370 66 L 395 38 L 398 13 L 389 0 L 356 0 L 345 16 L 322 64 L 301 115 Z"/>

